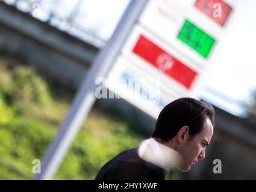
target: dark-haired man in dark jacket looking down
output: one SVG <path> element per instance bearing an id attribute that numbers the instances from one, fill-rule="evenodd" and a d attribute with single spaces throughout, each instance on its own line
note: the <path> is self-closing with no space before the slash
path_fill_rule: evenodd
<path id="1" fill-rule="evenodd" d="M 149 140 L 108 161 L 95 179 L 164 179 L 172 167 L 188 172 L 204 160 L 213 127 L 211 104 L 193 98 L 175 100 L 160 112 Z"/>

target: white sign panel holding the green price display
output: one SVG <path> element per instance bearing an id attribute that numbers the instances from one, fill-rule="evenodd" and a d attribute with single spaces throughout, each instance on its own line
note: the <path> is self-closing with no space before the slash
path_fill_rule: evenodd
<path id="1" fill-rule="evenodd" d="M 196 64 L 207 65 L 218 34 L 214 34 L 214 30 L 199 27 L 198 22 L 188 19 L 183 11 L 170 2 L 151 0 L 140 17 L 140 25 L 169 46 L 183 52 Z M 187 24 L 190 24 L 190 28 Z M 207 45 L 203 43 L 205 40 Z"/>

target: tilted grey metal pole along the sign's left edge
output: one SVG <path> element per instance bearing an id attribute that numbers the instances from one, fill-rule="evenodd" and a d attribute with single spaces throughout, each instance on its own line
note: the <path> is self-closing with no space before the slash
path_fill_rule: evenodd
<path id="1" fill-rule="evenodd" d="M 73 138 L 86 119 L 93 103 L 95 103 L 95 79 L 97 77 L 106 77 L 110 72 L 115 59 L 119 55 L 123 44 L 139 19 L 147 2 L 148 0 L 131 0 L 112 37 L 104 49 L 96 56 L 92 67 L 80 86 L 78 94 L 76 94 L 73 100 L 63 124 L 61 124 L 58 130 L 57 136 L 55 136 L 45 157 L 43 157 L 42 173 L 37 173 L 34 179 L 52 179 L 54 176 Z"/>

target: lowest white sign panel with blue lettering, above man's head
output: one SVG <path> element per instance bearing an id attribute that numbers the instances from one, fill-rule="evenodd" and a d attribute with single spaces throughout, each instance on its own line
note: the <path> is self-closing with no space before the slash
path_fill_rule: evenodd
<path id="1" fill-rule="evenodd" d="M 114 97 L 125 99 L 155 119 L 164 106 L 185 96 L 163 88 L 158 78 L 148 76 L 122 56 L 117 58 L 106 86 Z"/>

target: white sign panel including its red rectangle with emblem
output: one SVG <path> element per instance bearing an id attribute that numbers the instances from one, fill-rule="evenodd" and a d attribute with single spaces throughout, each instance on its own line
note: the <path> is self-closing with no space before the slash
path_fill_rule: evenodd
<path id="1" fill-rule="evenodd" d="M 167 89 L 197 97 L 195 88 L 203 68 L 142 27 L 136 26 L 131 32 L 121 55 L 145 74 L 159 77 Z"/>

